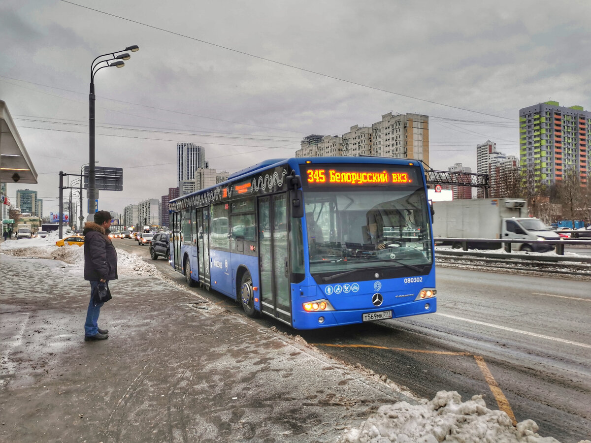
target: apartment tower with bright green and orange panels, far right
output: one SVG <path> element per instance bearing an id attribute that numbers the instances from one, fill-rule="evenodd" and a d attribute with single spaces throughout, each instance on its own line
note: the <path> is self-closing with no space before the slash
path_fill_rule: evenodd
<path id="1" fill-rule="evenodd" d="M 519 109 L 519 163 L 535 185 L 551 185 L 574 171 L 589 180 L 591 112 L 545 102 Z"/>

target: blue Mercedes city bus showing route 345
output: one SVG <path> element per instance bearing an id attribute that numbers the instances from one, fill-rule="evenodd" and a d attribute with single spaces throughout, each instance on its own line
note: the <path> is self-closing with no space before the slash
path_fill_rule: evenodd
<path id="1" fill-rule="evenodd" d="M 431 209 L 419 161 L 270 159 L 170 201 L 187 284 L 296 329 L 435 312 Z"/>

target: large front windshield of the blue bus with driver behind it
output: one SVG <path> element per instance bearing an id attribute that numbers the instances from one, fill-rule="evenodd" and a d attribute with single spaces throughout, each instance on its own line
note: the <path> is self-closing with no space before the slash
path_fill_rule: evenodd
<path id="1" fill-rule="evenodd" d="M 422 272 L 433 263 L 423 188 L 308 190 L 305 203 L 315 277 L 370 268 Z"/>

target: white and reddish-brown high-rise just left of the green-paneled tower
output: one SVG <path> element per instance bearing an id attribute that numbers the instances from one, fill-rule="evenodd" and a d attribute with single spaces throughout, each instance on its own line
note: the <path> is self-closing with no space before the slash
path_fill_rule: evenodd
<path id="1" fill-rule="evenodd" d="M 497 151 L 495 142 L 487 140 L 476 145 L 476 172 L 488 174 L 489 197 L 505 197 L 506 179 L 515 173 L 517 166 L 517 157 Z M 483 197 L 482 188 L 478 188 L 478 198 Z"/>

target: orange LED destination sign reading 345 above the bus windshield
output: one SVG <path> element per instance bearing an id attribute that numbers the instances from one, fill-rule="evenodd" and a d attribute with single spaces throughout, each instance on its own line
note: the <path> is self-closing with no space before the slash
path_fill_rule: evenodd
<path id="1" fill-rule="evenodd" d="M 418 168 L 381 167 L 372 168 L 350 165 L 310 165 L 301 167 L 304 184 L 314 185 L 407 185 L 420 184 Z"/>

